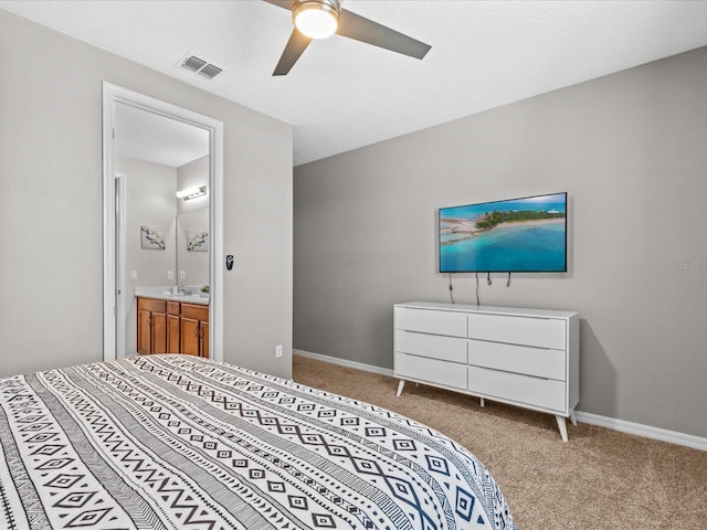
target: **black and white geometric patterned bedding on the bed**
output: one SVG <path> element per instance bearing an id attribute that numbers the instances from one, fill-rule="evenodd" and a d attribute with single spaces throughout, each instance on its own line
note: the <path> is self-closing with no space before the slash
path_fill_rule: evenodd
<path id="1" fill-rule="evenodd" d="M 191 356 L 0 380 L 2 529 L 511 529 L 476 457 L 395 413 Z"/>

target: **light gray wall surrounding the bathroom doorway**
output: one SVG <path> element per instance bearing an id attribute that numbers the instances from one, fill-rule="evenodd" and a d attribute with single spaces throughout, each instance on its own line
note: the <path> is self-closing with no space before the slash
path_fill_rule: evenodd
<path id="1" fill-rule="evenodd" d="M 104 81 L 223 121 L 224 360 L 291 377 L 292 127 L 2 10 L 0 377 L 103 358 Z"/>

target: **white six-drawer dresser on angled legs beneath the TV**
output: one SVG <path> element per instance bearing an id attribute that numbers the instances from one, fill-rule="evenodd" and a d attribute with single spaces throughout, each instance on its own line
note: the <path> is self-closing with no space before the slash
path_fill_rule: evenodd
<path id="1" fill-rule="evenodd" d="M 398 395 L 414 381 L 577 424 L 579 314 L 411 301 L 394 306 Z"/>

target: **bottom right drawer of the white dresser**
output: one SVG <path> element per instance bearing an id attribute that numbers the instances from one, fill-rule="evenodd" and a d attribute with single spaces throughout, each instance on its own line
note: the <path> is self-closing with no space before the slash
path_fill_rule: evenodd
<path id="1" fill-rule="evenodd" d="M 564 382 L 553 379 L 468 367 L 468 390 L 492 400 L 498 398 L 562 414 L 566 412 Z"/>

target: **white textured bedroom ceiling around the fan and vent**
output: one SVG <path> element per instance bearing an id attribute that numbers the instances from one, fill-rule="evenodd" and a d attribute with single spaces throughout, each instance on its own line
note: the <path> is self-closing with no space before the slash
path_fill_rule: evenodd
<path id="1" fill-rule="evenodd" d="M 418 61 L 335 35 L 272 77 L 291 13 L 260 0 L 0 8 L 293 124 L 295 165 L 707 45 L 707 1 L 346 0 L 432 50 Z M 182 71 L 187 53 L 225 72 Z"/>

